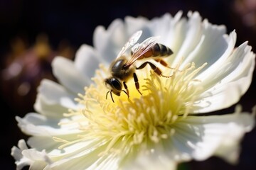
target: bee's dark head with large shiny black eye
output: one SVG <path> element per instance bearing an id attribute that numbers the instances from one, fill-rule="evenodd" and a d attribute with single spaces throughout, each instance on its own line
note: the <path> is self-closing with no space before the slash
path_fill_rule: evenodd
<path id="1" fill-rule="evenodd" d="M 112 91 L 115 95 L 120 96 L 122 91 L 122 83 L 119 81 L 119 79 L 114 77 L 105 79 L 105 85 L 107 86 L 107 89 L 110 89 L 110 91 Z"/>

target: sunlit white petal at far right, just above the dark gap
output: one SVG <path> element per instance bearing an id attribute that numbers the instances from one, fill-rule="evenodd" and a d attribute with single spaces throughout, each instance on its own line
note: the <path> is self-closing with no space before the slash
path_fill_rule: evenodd
<path id="1" fill-rule="evenodd" d="M 232 106 L 249 88 L 255 67 L 255 55 L 251 52 L 251 47 L 245 42 L 227 60 L 216 68 L 215 74 L 204 79 L 201 77 L 206 91 L 196 101 L 198 110 L 194 113 L 217 111 Z M 209 87 L 212 88 L 208 89 Z"/>

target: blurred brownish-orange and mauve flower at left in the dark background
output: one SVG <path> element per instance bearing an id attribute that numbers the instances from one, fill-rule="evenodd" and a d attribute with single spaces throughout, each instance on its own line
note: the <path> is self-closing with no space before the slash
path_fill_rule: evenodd
<path id="1" fill-rule="evenodd" d="M 9 100 L 17 111 L 32 108 L 36 99 L 36 88 L 43 78 L 55 81 L 50 67 L 55 55 L 71 59 L 73 48 L 63 41 L 60 42 L 58 50 L 53 50 L 45 34 L 38 35 L 31 47 L 28 47 L 21 38 L 11 42 L 11 51 L 6 55 L 5 68 L 1 70 L 1 90 L 6 100 Z"/>

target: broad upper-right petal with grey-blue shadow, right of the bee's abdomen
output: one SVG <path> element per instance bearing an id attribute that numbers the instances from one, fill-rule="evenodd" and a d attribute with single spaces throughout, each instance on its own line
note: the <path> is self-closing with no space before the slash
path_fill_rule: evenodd
<path id="1" fill-rule="evenodd" d="M 207 66 L 201 70 L 201 72 L 203 72 L 212 64 L 215 64 L 223 55 L 226 56 L 232 52 L 236 36 L 233 38 L 235 34 L 231 34 L 230 37 L 227 38 L 225 35 L 225 26 L 215 26 L 208 23 L 207 20 L 204 20 L 201 28 L 198 29 L 196 41 L 193 42 L 194 38 L 192 37 L 191 42 L 188 43 L 188 45 L 192 44 L 190 45 L 191 48 L 189 48 L 189 50 L 185 49 L 184 51 L 187 53 L 177 58 L 185 57 L 181 68 L 188 62 L 194 62 L 197 67 L 207 62 Z M 193 35 L 193 33 L 191 35 Z M 177 58 L 175 62 L 179 62 Z"/>

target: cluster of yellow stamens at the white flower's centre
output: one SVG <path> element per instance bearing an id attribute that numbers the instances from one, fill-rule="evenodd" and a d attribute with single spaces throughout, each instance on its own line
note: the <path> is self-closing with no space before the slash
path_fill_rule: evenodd
<path id="1" fill-rule="evenodd" d="M 111 98 L 105 98 L 107 69 L 101 65 L 93 78 L 95 84 L 85 88 L 85 94 L 75 99 L 84 108 L 66 113 L 65 117 L 75 118 L 60 123 L 77 125 L 80 134 L 74 141 L 53 139 L 63 142 L 60 148 L 74 142 L 100 141 L 104 149 L 99 156 L 131 152 L 140 145 L 166 140 L 174 135 L 175 123 L 193 111 L 201 90 L 201 81 L 195 77 L 205 65 L 196 68 L 193 63 L 187 64 L 182 70 L 172 70 L 170 78 L 159 77 L 154 72 L 142 73 L 147 75 L 140 81 L 143 95 L 130 88 L 132 83 L 127 84 L 130 97 L 113 96 L 114 103 Z M 139 79 L 142 78 L 139 76 Z"/>

